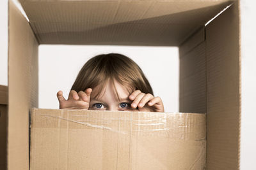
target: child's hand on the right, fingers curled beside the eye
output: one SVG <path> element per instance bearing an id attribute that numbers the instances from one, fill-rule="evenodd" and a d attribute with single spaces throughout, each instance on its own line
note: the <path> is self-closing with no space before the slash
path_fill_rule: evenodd
<path id="1" fill-rule="evenodd" d="M 154 97 L 152 94 L 145 94 L 140 90 L 135 90 L 129 96 L 132 101 L 131 107 L 139 111 L 164 112 L 164 104 L 160 97 Z"/>

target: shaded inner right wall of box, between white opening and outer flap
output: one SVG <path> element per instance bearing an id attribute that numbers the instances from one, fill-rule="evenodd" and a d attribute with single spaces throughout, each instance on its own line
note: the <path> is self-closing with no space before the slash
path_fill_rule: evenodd
<path id="1" fill-rule="evenodd" d="M 204 29 L 180 46 L 179 110 L 206 113 Z"/>

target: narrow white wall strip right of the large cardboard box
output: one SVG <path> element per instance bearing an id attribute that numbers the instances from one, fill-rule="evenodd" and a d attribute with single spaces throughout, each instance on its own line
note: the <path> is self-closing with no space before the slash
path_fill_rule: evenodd
<path id="1" fill-rule="evenodd" d="M 241 0 L 241 169 L 256 169 L 256 1 Z"/>

